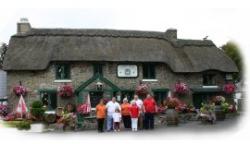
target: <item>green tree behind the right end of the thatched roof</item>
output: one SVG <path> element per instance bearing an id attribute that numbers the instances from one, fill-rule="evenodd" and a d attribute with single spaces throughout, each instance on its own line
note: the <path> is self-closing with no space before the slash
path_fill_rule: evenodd
<path id="1" fill-rule="evenodd" d="M 243 61 L 240 48 L 231 41 L 227 42 L 221 48 L 235 62 L 239 70 L 239 73 L 233 74 L 234 81 L 240 81 L 243 74 Z"/>

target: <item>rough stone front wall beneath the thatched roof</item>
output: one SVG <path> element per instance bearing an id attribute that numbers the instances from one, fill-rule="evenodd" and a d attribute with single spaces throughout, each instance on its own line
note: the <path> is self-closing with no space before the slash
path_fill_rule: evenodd
<path id="1" fill-rule="evenodd" d="M 103 67 L 103 76 L 110 80 L 113 84 L 121 89 L 134 90 L 136 84 L 142 79 L 142 64 L 138 64 L 139 75 L 137 78 L 118 78 L 117 77 L 118 63 L 105 63 Z M 73 87 L 76 89 L 82 82 L 87 81 L 93 76 L 93 66 L 91 63 L 72 63 L 71 64 L 71 80 Z M 198 87 L 202 85 L 201 73 L 173 73 L 165 64 L 156 64 L 156 82 L 148 82 L 152 89 L 169 88 L 172 89 L 177 80 L 187 83 L 190 87 Z M 61 83 L 55 81 L 55 67 L 53 63 L 44 71 L 8 71 L 7 73 L 7 95 L 10 110 L 16 106 L 18 97 L 12 92 L 13 86 L 19 81 L 29 89 L 25 100 L 30 104 L 34 100 L 40 99 L 39 89 L 57 89 Z M 216 75 L 216 82 L 219 85 L 224 83 L 223 74 Z M 93 87 L 93 86 L 92 86 Z M 188 102 L 192 101 L 191 95 L 185 98 Z M 63 106 L 67 102 L 75 102 L 75 98 L 62 99 L 58 98 L 58 106 Z"/>

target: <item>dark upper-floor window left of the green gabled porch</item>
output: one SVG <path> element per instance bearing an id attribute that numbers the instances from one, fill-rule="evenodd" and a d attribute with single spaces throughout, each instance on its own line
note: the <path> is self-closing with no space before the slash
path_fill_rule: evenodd
<path id="1" fill-rule="evenodd" d="M 56 79 L 57 80 L 70 79 L 70 65 L 69 64 L 57 64 L 56 65 Z"/>

